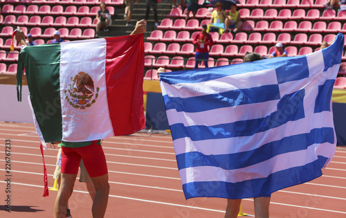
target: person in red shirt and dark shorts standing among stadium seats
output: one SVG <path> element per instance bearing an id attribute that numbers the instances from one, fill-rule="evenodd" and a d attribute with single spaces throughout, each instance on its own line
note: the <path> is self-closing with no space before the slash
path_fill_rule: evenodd
<path id="1" fill-rule="evenodd" d="M 209 33 L 207 33 L 208 26 L 203 24 L 201 32 L 194 35 L 193 44 L 197 44 L 196 54 L 194 55 L 196 61 L 194 64 L 194 69 L 198 69 L 199 60 L 204 60 L 204 65 L 208 67 L 209 60 L 209 48 L 208 46 L 212 46 L 214 42 L 212 41 L 212 37 Z"/>

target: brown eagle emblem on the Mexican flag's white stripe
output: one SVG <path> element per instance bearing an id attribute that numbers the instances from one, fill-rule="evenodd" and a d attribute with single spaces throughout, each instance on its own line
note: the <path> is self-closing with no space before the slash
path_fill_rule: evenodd
<path id="1" fill-rule="evenodd" d="M 65 89 L 65 99 L 71 107 L 75 109 L 86 109 L 91 107 L 98 98 L 100 88 L 94 89 L 93 79 L 88 73 L 80 71 L 71 77 L 73 84 L 69 84 L 70 89 Z"/>

